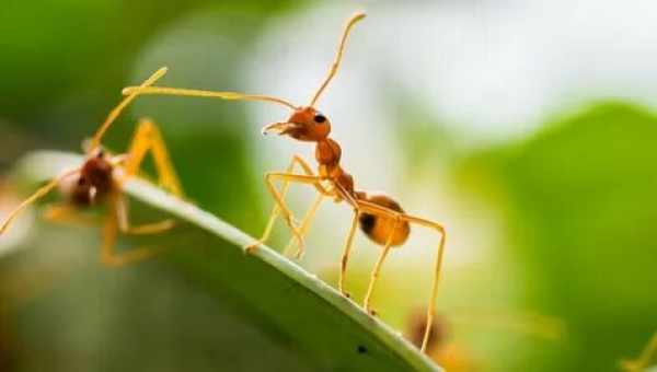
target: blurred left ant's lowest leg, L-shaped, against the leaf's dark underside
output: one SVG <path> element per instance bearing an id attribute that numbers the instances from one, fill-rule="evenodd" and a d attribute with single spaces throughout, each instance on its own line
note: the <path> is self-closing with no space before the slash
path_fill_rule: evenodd
<path id="1" fill-rule="evenodd" d="M 126 252 L 116 252 L 116 237 L 118 232 L 123 230 L 120 225 L 124 223 L 122 219 L 125 218 L 126 214 L 122 212 L 122 202 L 118 199 L 120 195 L 113 196 L 110 201 L 111 207 L 114 209 L 115 213 L 107 216 L 105 225 L 103 226 L 103 246 L 101 248 L 101 260 L 106 266 L 111 267 L 123 267 L 126 265 L 135 264 L 148 258 L 151 258 L 158 254 L 160 254 L 163 249 L 155 248 L 132 248 Z M 123 209 L 125 211 L 125 209 Z M 153 224 L 154 226 L 155 224 Z M 143 231 L 148 231 L 148 233 L 155 233 L 162 231 L 162 229 L 153 229 L 153 228 L 141 228 Z M 142 232 L 143 233 L 143 232 Z"/>

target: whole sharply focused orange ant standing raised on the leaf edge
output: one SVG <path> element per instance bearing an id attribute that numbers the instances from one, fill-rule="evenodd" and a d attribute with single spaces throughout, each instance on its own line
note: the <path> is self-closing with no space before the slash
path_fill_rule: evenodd
<path id="1" fill-rule="evenodd" d="M 420 347 L 420 350 L 425 351 L 430 334 L 430 325 L 433 324 L 435 302 L 438 295 L 438 278 L 440 277 L 440 267 L 446 241 L 445 229 L 439 223 L 406 213 L 400 204 L 389 196 L 374 194 L 369 195 L 365 191 L 356 190 L 354 177 L 341 166 L 339 162 L 342 158 L 342 149 L 339 144 L 328 137 L 331 133 L 331 121 L 328 118 L 326 118 L 326 116 L 315 108 L 320 96 L 325 91 L 331 80 L 333 80 L 339 68 L 345 44 L 353 26 L 364 18 L 365 13 L 356 13 L 348 19 L 339 39 L 335 59 L 328 70 L 328 74 L 312 96 L 310 104 L 307 106 L 297 106 L 285 100 L 267 95 L 175 89 L 165 86 L 128 86 L 124 89 L 124 94 L 163 94 L 215 97 L 222 100 L 264 101 L 276 103 L 292 109 L 292 114 L 287 120 L 265 126 L 263 128 L 263 135 L 276 132 L 280 136 L 288 136 L 298 141 L 314 142 L 315 160 L 319 163 L 319 174 L 314 174 L 310 164 L 301 156 L 295 155 L 286 172 L 270 172 L 265 175 L 266 186 L 274 197 L 276 205 L 272 210 L 269 221 L 261 240 L 258 240 L 255 244 L 247 246 L 246 251 L 250 252 L 255 249 L 257 246 L 266 242 L 269 237 L 276 218 L 279 214 L 283 214 L 286 224 L 293 233 L 292 241 L 295 239 L 297 241 L 297 257 L 299 257 L 303 252 L 303 235 L 308 231 L 310 221 L 313 219 L 322 199 L 324 197 L 330 197 L 336 202 L 346 201 L 354 209 L 354 218 L 342 256 L 338 289 L 344 295 L 348 297 L 348 293 L 344 290 L 345 274 L 347 261 L 351 252 L 354 234 L 356 232 L 356 228 L 359 225 L 360 230 L 370 240 L 383 247 L 381 255 L 371 272 L 369 288 L 364 300 L 365 310 L 372 315 L 374 315 L 376 312 L 370 309 L 370 299 L 373 293 L 377 279 L 379 278 L 381 266 L 390 253 L 390 249 L 404 244 L 411 233 L 412 223 L 437 231 L 440 234 L 440 242 L 438 243 L 435 275 L 431 286 L 431 297 L 427 310 L 427 327 Z M 295 167 L 297 165 L 301 168 L 302 174 L 295 173 Z M 280 191 L 277 190 L 275 186 L 276 181 L 281 181 L 284 184 Z M 292 212 L 285 202 L 285 195 L 289 187 L 289 183 L 311 185 L 319 193 L 318 198 L 307 211 L 299 226 L 295 224 Z M 292 242 L 290 242 L 290 244 Z"/>

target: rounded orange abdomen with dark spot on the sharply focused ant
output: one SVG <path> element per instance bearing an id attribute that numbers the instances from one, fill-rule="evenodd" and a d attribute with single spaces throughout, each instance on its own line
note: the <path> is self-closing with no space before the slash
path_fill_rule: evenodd
<path id="1" fill-rule="evenodd" d="M 394 211 L 403 213 L 404 210 L 399 202 L 394 201 L 391 197 L 385 195 L 370 195 L 364 198 L 369 202 L 373 202 L 378 206 L 392 209 Z M 360 230 L 374 243 L 379 245 L 385 245 L 392 234 L 391 246 L 399 246 L 406 242 L 408 234 L 411 233 L 411 225 L 408 221 L 399 221 L 395 228 L 395 221 L 393 218 L 361 213 L 358 218 Z M 394 229 L 394 231 L 392 231 Z"/>

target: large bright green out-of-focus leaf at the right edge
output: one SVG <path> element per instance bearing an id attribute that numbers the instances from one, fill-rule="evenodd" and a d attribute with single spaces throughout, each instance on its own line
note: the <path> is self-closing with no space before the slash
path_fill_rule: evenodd
<path id="1" fill-rule="evenodd" d="M 463 167 L 509 214 L 530 307 L 568 324 L 545 370 L 614 371 L 657 324 L 656 138 L 657 117 L 603 103 Z"/>

